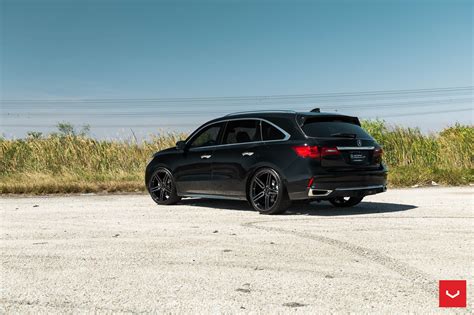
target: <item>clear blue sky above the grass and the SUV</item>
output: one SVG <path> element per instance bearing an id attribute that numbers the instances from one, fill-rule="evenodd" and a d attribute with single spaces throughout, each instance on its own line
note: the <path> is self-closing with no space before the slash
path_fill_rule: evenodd
<path id="1" fill-rule="evenodd" d="M 472 124 L 472 89 L 438 90 L 474 85 L 472 1 L 0 4 L 4 136 L 47 132 L 58 121 L 90 124 L 99 137 L 190 130 L 236 110 L 348 104 L 341 111 L 423 130 Z M 421 89 L 432 93 L 357 94 Z M 195 99 L 300 94 L 319 96 Z"/>

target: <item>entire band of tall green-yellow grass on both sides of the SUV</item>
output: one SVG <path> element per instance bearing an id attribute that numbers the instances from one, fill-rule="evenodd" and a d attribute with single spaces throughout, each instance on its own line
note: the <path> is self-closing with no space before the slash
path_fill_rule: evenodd
<path id="1" fill-rule="evenodd" d="M 384 148 L 390 186 L 474 182 L 473 126 L 455 125 L 430 135 L 382 121 L 363 126 Z M 60 131 L 0 138 L 0 193 L 145 191 L 144 169 L 152 153 L 186 137 L 169 133 L 137 143 L 95 140 L 64 126 Z"/>

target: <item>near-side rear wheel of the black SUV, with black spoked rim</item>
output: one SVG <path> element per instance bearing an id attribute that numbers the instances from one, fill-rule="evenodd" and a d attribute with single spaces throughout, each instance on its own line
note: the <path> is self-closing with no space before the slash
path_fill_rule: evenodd
<path id="1" fill-rule="evenodd" d="M 255 172 L 249 182 L 248 198 L 261 214 L 280 214 L 291 204 L 281 176 L 271 168 Z"/>

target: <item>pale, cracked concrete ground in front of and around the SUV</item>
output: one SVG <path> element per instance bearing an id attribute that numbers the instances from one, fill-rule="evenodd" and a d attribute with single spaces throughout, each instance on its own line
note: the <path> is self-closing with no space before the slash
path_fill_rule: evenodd
<path id="1" fill-rule="evenodd" d="M 279 216 L 238 201 L 1 197 L 0 312 L 437 313 L 441 279 L 468 280 L 469 306 L 473 196 L 394 189 Z"/>

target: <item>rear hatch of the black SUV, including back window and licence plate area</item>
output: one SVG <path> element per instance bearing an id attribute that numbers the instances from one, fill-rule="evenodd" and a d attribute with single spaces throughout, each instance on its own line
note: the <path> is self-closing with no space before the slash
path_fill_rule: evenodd
<path id="1" fill-rule="evenodd" d="M 322 167 L 341 171 L 380 168 L 382 149 L 356 117 L 309 115 L 298 121 L 306 136 L 316 140 Z"/>

